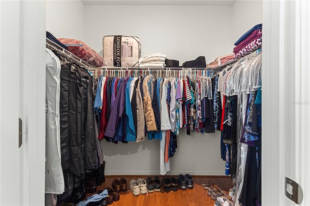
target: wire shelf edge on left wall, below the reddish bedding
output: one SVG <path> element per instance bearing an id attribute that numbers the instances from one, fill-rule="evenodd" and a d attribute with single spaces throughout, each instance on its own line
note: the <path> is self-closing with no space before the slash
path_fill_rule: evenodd
<path id="1" fill-rule="evenodd" d="M 60 45 L 54 43 L 53 41 L 51 41 L 47 38 L 46 38 L 46 47 L 50 50 L 57 51 L 59 54 L 62 54 L 65 57 L 73 60 L 75 63 L 77 63 L 81 67 L 85 67 L 88 70 L 93 70 L 93 67 L 89 63 L 78 58 L 76 55 L 72 54 L 68 50 L 62 48 Z"/>

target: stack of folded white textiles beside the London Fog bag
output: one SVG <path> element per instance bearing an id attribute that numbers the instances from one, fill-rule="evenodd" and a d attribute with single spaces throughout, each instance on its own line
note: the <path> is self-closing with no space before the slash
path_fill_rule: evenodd
<path id="1" fill-rule="evenodd" d="M 139 59 L 140 68 L 164 68 L 166 66 L 165 60 L 167 55 L 155 53 L 149 56 L 143 56 Z"/>

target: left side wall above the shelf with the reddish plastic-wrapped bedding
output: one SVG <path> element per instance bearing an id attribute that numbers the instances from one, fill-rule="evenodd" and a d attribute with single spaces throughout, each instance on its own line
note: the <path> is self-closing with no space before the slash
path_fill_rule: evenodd
<path id="1" fill-rule="evenodd" d="M 55 37 L 85 40 L 85 15 L 82 1 L 46 0 L 46 15 L 47 31 Z"/>

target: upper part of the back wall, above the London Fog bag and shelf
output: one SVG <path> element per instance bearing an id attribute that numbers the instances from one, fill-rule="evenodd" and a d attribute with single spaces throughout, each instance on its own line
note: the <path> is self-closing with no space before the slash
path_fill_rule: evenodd
<path id="1" fill-rule="evenodd" d="M 231 6 L 85 5 L 85 41 L 102 51 L 106 35 L 140 38 L 141 55 L 162 52 L 168 59 L 205 56 L 213 61 L 233 50 Z"/>

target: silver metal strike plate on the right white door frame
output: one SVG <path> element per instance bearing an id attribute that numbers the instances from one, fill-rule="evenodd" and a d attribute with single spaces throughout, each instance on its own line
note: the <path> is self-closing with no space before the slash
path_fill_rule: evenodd
<path id="1" fill-rule="evenodd" d="M 288 177 L 285 177 L 285 196 L 296 204 L 300 204 L 303 199 L 303 192 L 300 185 Z"/>

